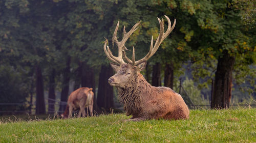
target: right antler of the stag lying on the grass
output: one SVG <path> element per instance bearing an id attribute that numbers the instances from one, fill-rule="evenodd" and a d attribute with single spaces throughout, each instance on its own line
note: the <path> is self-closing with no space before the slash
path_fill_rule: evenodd
<path id="1" fill-rule="evenodd" d="M 134 47 L 133 47 L 133 58 L 132 58 L 132 60 L 127 58 L 125 52 L 123 51 L 124 59 L 128 63 L 133 64 L 134 66 L 136 66 L 136 65 L 140 64 L 141 62 L 147 61 L 148 59 L 150 59 L 151 56 L 153 56 L 156 53 L 158 47 L 163 42 L 163 40 L 173 31 L 173 29 L 175 27 L 175 24 L 176 24 L 176 19 L 174 19 L 174 24 L 173 24 L 173 26 L 171 26 L 171 22 L 170 22 L 169 17 L 167 17 L 166 15 L 164 15 L 164 16 L 165 16 L 165 18 L 168 21 L 168 28 L 167 28 L 166 32 L 164 33 L 164 21 L 163 21 L 163 19 L 161 21 L 159 18 L 157 18 L 158 21 L 159 21 L 159 24 L 160 24 L 160 32 L 159 32 L 159 36 L 158 36 L 158 38 L 156 40 L 156 43 L 155 43 L 154 47 L 153 47 L 153 36 L 152 36 L 150 51 L 146 54 L 146 56 L 144 58 L 142 58 L 142 59 L 140 59 L 138 61 L 135 61 Z"/>

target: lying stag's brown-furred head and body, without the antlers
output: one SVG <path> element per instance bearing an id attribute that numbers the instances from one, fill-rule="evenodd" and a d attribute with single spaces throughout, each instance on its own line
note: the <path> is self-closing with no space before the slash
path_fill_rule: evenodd
<path id="1" fill-rule="evenodd" d="M 131 64 L 111 66 L 117 73 L 109 82 L 117 87 L 126 116 L 133 116 L 129 121 L 189 118 L 189 109 L 178 93 L 170 88 L 154 87 L 140 74 L 145 62 L 138 67 Z"/>

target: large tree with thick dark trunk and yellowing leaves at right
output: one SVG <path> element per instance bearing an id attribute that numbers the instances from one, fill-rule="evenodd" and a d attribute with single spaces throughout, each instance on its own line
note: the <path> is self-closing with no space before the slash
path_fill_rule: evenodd
<path id="1" fill-rule="evenodd" d="M 214 95 L 211 102 L 212 108 L 226 108 L 229 105 L 231 93 L 231 79 L 233 66 L 236 66 L 236 58 L 246 56 L 248 65 L 252 64 L 253 44 L 249 27 L 244 28 L 241 19 L 241 11 L 232 8 L 231 1 L 162 1 L 163 4 L 173 9 L 182 25 L 178 30 L 183 40 L 178 43 L 177 49 L 188 50 L 189 60 L 194 63 L 210 59 L 218 59 L 215 75 Z M 163 9 L 163 11 L 168 11 Z M 172 13 L 173 11 L 170 11 Z M 181 15 L 182 13 L 182 15 Z M 177 20 L 178 21 L 178 20 Z M 251 35 L 253 37 L 253 35 Z M 244 45 L 243 45 L 244 44 Z M 207 60 L 208 61 L 208 60 Z M 210 64 L 210 65 L 208 65 Z M 227 66 L 229 65 L 229 66 Z M 201 64 L 196 71 L 202 71 L 212 66 L 211 62 Z M 204 68 L 206 67 L 206 68 Z M 215 68 L 214 68 L 215 69 Z M 211 76 L 210 72 L 200 76 Z M 210 79 L 210 78 L 209 78 Z M 207 80 L 209 83 L 209 80 Z M 221 99 L 221 100 L 220 100 Z"/>

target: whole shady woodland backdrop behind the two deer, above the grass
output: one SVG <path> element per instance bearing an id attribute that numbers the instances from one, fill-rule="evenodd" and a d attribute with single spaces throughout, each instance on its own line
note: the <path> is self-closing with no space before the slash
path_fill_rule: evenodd
<path id="1" fill-rule="evenodd" d="M 174 31 L 141 73 L 154 86 L 180 93 L 190 108 L 255 107 L 255 1 L 2 0 L 0 1 L 0 115 L 62 113 L 79 87 L 93 88 L 97 113 L 119 111 L 114 75 L 103 51 L 118 21 L 119 40 L 136 59 L 158 37 L 157 17 Z"/>

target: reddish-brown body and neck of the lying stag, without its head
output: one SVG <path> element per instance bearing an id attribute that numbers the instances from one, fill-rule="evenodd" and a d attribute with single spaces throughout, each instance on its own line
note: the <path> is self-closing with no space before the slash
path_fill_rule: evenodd
<path id="1" fill-rule="evenodd" d="M 118 88 L 118 92 L 120 102 L 124 104 L 126 116 L 132 115 L 135 120 L 136 118 L 141 118 L 141 120 L 188 118 L 188 107 L 178 93 L 170 88 L 154 87 L 142 75 L 139 75 L 134 88 Z M 126 95 L 125 93 L 132 94 Z"/>

